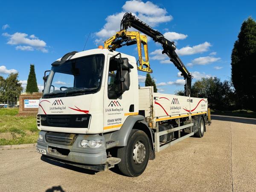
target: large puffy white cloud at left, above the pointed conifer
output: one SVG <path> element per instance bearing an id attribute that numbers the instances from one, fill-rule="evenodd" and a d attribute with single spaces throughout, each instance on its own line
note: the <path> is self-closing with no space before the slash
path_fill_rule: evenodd
<path id="1" fill-rule="evenodd" d="M 46 43 L 43 40 L 35 37 L 35 35 L 30 35 L 28 37 L 26 33 L 20 32 L 16 32 L 13 35 L 10 35 L 8 33 L 3 33 L 2 35 L 8 38 L 7 44 L 18 45 L 16 49 L 28 51 L 32 51 L 32 49 L 37 49 L 41 52 L 48 52 L 48 50 L 46 49 Z"/>

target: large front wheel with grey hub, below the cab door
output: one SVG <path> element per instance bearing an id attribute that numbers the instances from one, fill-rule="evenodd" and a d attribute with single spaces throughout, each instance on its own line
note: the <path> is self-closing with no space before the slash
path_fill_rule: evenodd
<path id="1" fill-rule="evenodd" d="M 117 157 L 121 159 L 119 170 L 129 177 L 141 175 L 148 165 L 149 153 L 148 136 L 144 131 L 132 129 L 127 145 L 117 149 Z"/>

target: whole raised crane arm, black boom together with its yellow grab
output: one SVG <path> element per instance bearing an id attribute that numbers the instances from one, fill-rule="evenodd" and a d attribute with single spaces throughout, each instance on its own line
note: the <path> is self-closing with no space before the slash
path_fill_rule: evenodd
<path id="1" fill-rule="evenodd" d="M 128 27 L 134 27 L 138 31 L 127 31 Z M 141 35 L 140 32 L 145 35 Z M 147 36 L 151 37 L 155 42 L 160 43 L 163 47 L 163 54 L 166 54 L 170 61 L 180 70 L 181 75 L 186 80 L 184 85 L 185 95 L 190 96 L 191 90 L 191 80 L 193 76 L 189 73 L 186 66 L 180 60 L 179 56 L 175 52 L 176 46 L 174 42 L 169 41 L 164 37 L 162 33 L 157 30 L 154 30 L 151 26 L 144 23 L 142 20 L 138 19 L 131 13 L 125 13 L 120 24 L 120 31 L 116 32 L 116 35 L 113 35 L 111 38 L 104 42 L 105 49 L 115 50 L 122 46 L 130 46 L 137 44 L 138 55 L 139 55 L 139 66 L 138 70 L 152 73 L 150 69 L 149 60 L 148 60 L 148 45 L 147 45 Z M 144 49 L 145 59 L 142 56 L 142 48 Z"/>

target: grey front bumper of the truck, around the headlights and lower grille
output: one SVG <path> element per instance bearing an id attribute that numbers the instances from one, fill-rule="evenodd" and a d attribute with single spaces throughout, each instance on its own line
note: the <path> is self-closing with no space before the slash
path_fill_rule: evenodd
<path id="1" fill-rule="evenodd" d="M 45 137 L 46 133 L 46 131 L 40 131 L 39 134 L 43 135 L 43 141 L 38 140 L 37 142 L 38 148 L 46 150 L 45 156 L 87 165 L 101 165 L 105 164 L 107 161 L 105 139 L 99 134 L 78 134 L 74 143 L 67 146 L 47 142 Z M 101 148 L 82 148 L 80 145 L 81 140 L 103 140 L 103 146 Z M 62 153 L 61 151 L 65 152 Z"/>

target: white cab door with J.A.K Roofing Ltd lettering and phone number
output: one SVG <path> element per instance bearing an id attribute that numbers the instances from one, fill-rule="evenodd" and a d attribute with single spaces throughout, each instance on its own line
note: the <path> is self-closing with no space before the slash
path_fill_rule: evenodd
<path id="1" fill-rule="evenodd" d="M 113 61 L 113 55 L 108 55 L 105 89 L 104 89 L 104 108 L 103 108 L 103 132 L 119 130 L 125 119 L 134 112 L 134 89 L 133 81 L 130 79 L 131 70 L 122 70 L 121 79 L 129 82 L 129 86 L 123 87 L 125 90 L 122 93 L 121 73 L 118 64 Z M 119 56 L 116 56 L 119 58 Z M 128 59 L 127 59 L 128 61 Z"/>

